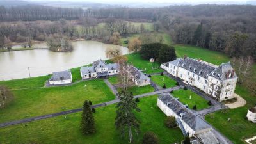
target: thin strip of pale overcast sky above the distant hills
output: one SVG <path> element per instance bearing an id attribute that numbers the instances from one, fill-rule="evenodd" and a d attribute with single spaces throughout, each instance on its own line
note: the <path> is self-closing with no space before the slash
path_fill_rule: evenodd
<path id="1" fill-rule="evenodd" d="M 42 0 L 29 0 L 29 1 L 42 1 Z M 216 1 L 237 1 L 244 2 L 246 0 L 44 0 L 44 1 L 88 1 L 95 3 L 202 3 L 202 2 L 216 2 Z"/>

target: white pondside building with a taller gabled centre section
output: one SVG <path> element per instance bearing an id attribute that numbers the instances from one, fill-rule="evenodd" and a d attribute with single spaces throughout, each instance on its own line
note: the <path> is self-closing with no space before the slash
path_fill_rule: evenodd
<path id="1" fill-rule="evenodd" d="M 92 66 L 81 67 L 80 73 L 82 79 L 107 77 L 119 74 L 119 68 L 117 63 L 106 64 L 105 61 L 97 60 L 92 63 Z"/>

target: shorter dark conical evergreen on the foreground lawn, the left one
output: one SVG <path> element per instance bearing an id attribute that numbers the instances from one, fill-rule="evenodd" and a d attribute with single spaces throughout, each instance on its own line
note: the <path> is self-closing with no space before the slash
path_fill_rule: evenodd
<path id="1" fill-rule="evenodd" d="M 83 134 L 92 134 L 93 132 L 96 131 L 92 110 L 87 100 L 84 101 L 83 105 L 81 128 Z"/>

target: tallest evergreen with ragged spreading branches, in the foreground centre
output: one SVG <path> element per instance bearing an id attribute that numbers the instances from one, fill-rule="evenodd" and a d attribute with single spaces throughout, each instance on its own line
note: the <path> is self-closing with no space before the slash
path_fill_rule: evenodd
<path id="1" fill-rule="evenodd" d="M 132 128 L 136 134 L 138 134 L 140 128 L 140 124 L 134 115 L 134 110 L 140 111 L 140 109 L 134 102 L 131 93 L 122 91 L 117 95 L 120 97 L 120 102 L 116 105 L 116 129 L 120 131 L 121 136 L 124 136 L 125 131 L 128 130 L 130 141 L 132 141 Z"/>

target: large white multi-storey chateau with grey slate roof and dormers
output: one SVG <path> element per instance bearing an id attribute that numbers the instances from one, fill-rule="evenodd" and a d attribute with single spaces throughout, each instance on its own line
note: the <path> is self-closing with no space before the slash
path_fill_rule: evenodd
<path id="1" fill-rule="evenodd" d="M 234 97 L 237 75 L 229 62 L 217 66 L 186 57 L 163 63 L 161 68 L 219 101 Z"/>

